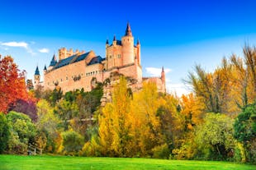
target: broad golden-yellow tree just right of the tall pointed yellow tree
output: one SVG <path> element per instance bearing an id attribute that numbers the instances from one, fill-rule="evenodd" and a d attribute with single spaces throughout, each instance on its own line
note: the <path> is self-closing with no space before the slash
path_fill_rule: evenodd
<path id="1" fill-rule="evenodd" d="M 162 102 L 163 100 L 159 98 L 156 85 L 152 82 L 145 83 L 143 89 L 134 94 L 130 120 L 141 156 L 152 156 L 154 147 L 164 144 L 158 115 L 158 109 Z"/>

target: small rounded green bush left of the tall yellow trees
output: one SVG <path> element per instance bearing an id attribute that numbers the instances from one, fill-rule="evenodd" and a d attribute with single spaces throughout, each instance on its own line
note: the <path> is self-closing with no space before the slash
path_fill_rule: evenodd
<path id="1" fill-rule="evenodd" d="M 78 151 L 83 147 L 83 136 L 75 131 L 64 131 L 61 135 L 64 154 L 77 155 Z"/>

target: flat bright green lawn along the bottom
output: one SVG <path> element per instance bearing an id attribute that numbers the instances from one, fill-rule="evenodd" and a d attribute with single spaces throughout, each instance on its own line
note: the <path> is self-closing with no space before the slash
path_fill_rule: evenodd
<path id="1" fill-rule="evenodd" d="M 17 156 L 0 155 L 1 170 L 132 170 L 132 169 L 160 169 L 160 170 L 249 170 L 256 169 L 256 165 L 214 162 L 187 161 L 163 159 L 118 159 L 118 158 L 86 158 L 67 156 Z"/>

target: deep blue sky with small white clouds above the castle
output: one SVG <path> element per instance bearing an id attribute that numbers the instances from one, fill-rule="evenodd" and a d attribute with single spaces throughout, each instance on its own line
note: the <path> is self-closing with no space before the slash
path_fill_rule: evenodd
<path id="1" fill-rule="evenodd" d="M 125 34 L 130 22 L 140 39 L 144 76 L 167 69 L 168 92 L 186 92 L 182 79 L 201 64 L 213 71 L 221 58 L 256 44 L 256 1 L 1 0 L 0 54 L 14 57 L 32 78 L 58 49 L 93 50 Z M 184 89 L 185 88 L 185 89 Z"/>

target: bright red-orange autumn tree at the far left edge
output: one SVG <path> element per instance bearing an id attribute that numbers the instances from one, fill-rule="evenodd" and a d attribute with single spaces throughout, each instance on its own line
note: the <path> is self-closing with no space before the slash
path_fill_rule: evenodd
<path id="1" fill-rule="evenodd" d="M 17 99 L 27 100 L 25 71 L 20 71 L 11 56 L 0 55 L 0 112 L 7 113 L 10 104 Z"/>

